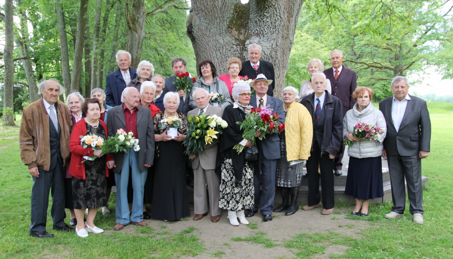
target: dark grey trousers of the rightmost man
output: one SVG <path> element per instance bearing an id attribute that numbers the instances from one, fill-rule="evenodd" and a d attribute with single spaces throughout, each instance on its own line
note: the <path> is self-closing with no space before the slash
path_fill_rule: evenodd
<path id="1" fill-rule="evenodd" d="M 423 214 L 422 164 L 418 155 L 388 155 L 390 183 L 392 185 L 392 212 L 403 214 L 406 207 L 406 191 L 409 197 L 409 212 Z"/>

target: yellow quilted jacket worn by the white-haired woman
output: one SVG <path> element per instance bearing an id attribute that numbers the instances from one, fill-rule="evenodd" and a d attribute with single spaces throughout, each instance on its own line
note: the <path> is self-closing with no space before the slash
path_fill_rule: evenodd
<path id="1" fill-rule="evenodd" d="M 313 140 L 313 120 L 307 108 L 298 102 L 290 104 L 284 126 L 287 160 L 307 160 Z"/>

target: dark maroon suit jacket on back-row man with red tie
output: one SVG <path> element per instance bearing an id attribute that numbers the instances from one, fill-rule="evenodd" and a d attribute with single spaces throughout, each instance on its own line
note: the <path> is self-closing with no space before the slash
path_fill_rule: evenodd
<path id="1" fill-rule="evenodd" d="M 352 98 L 352 93 L 357 88 L 357 74 L 349 68 L 343 66 L 343 69 L 338 75 L 337 80 L 333 74 L 333 67 L 324 70 L 327 79 L 330 80 L 332 86 L 331 94 L 340 99 L 343 104 L 343 118 L 346 112 L 354 107 L 356 101 Z"/>

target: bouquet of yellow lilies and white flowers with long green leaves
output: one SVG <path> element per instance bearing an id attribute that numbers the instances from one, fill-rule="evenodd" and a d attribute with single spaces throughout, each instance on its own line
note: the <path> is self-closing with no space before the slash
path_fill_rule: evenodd
<path id="1" fill-rule="evenodd" d="M 189 130 L 184 133 L 187 137 L 183 143 L 187 146 L 185 153 L 190 155 L 204 153 L 204 146 L 217 143 L 217 135 L 222 134 L 222 129 L 228 127 L 228 123 L 215 114 L 189 115 L 187 121 Z M 190 162 L 192 163 L 192 160 Z"/>

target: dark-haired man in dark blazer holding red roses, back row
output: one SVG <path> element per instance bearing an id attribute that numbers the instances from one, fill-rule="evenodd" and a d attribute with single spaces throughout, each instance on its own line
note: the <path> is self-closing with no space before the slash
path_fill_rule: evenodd
<path id="1" fill-rule="evenodd" d="M 171 69 L 173 70 L 174 75 L 165 78 L 165 88 L 164 88 L 164 95 L 168 92 L 176 92 L 176 87 L 178 84 L 173 84 L 173 80 L 176 79 L 177 73 L 185 73 L 187 71 L 187 62 L 180 57 L 175 57 L 171 61 Z M 178 112 L 184 113 L 187 116 L 187 113 L 191 110 L 189 107 L 190 101 L 190 92 L 184 93 L 183 90 L 178 91 L 179 94 L 179 106 Z"/>

